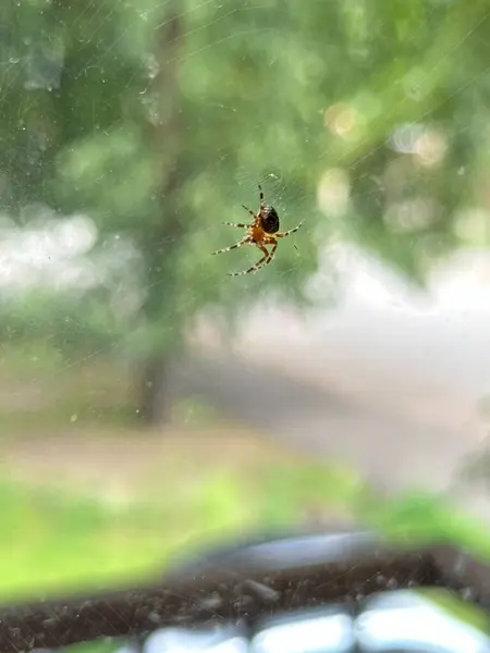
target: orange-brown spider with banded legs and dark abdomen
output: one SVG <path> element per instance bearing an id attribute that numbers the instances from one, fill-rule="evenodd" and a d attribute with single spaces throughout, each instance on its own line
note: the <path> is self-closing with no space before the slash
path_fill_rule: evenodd
<path id="1" fill-rule="evenodd" d="M 299 222 L 297 226 L 294 229 L 290 229 L 287 232 L 279 231 L 279 215 L 274 207 L 269 207 L 264 201 L 264 192 L 262 187 L 258 186 L 259 189 L 259 199 L 260 199 L 260 208 L 258 213 L 255 214 L 252 209 L 242 205 L 243 208 L 248 211 L 252 215 L 253 221 L 250 224 L 243 224 L 236 222 L 224 222 L 223 224 L 228 224 L 229 226 L 240 226 L 241 229 L 246 229 L 247 233 L 241 241 L 232 245 L 231 247 L 225 247 L 224 249 L 218 249 L 218 251 L 213 251 L 212 254 L 221 254 L 223 251 L 230 251 L 231 249 L 236 249 L 237 247 L 242 247 L 242 245 L 256 245 L 264 254 L 262 258 L 257 261 L 252 268 L 248 270 L 244 270 L 243 272 L 231 272 L 229 276 L 238 276 L 240 274 L 248 274 L 249 272 L 257 272 L 260 268 L 268 266 L 272 262 L 274 258 L 275 250 L 278 249 L 278 238 L 285 238 L 290 234 L 294 234 L 303 222 Z M 268 245 L 272 245 L 272 249 L 269 251 L 267 249 Z"/>

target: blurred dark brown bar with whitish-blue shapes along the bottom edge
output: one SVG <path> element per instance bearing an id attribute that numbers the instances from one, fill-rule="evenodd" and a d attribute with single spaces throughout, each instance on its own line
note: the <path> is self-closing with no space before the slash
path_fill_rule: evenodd
<path id="1" fill-rule="evenodd" d="M 113 651 L 145 653 L 490 653 L 489 613 L 490 566 L 451 545 L 294 535 L 211 552 L 158 583 L 0 606 L 0 652 L 115 638 Z"/>

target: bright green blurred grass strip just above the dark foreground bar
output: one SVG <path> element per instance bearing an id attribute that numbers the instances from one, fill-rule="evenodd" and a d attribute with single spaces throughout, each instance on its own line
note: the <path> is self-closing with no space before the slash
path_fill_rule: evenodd
<path id="1" fill-rule="evenodd" d="M 198 491 L 168 489 L 159 502 L 125 507 L 59 490 L 0 481 L 0 599 L 132 582 L 223 539 L 297 523 L 308 505 L 351 509 L 364 523 L 414 543 L 458 542 L 488 556 L 490 537 L 441 498 L 381 502 L 352 475 L 319 465 L 261 469 L 249 478 L 211 471 Z"/>

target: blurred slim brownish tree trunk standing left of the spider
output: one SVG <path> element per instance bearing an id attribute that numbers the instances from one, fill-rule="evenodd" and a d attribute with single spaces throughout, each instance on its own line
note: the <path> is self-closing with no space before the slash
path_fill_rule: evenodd
<path id="1" fill-rule="evenodd" d="M 168 9 L 168 17 L 156 35 L 156 54 L 160 70 L 150 91 L 158 97 L 160 120 L 147 123 L 149 143 L 162 156 L 160 197 L 162 219 L 151 233 L 145 234 L 140 243 L 147 266 L 147 297 L 143 306 L 144 320 L 148 324 L 161 325 L 161 343 L 151 343 L 139 368 L 138 416 L 148 426 L 170 420 L 171 397 L 168 392 L 171 355 L 180 346 L 183 330 L 179 310 L 179 279 L 176 257 L 186 233 L 186 221 L 177 212 L 176 195 L 182 184 L 180 165 L 182 135 L 181 97 L 179 91 L 179 51 L 182 46 L 182 12 L 177 0 Z M 169 165 L 169 156 L 172 164 Z M 164 337 L 172 330 L 172 347 Z M 167 331 L 168 333 L 168 331 Z"/>

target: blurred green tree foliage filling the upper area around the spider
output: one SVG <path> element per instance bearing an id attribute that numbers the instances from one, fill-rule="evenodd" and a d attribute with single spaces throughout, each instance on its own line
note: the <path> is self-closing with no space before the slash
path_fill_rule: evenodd
<path id="1" fill-rule="evenodd" d="M 333 232 L 420 282 L 439 255 L 488 242 L 489 12 L 488 0 L 3 3 L 0 207 L 85 212 L 95 249 L 118 235 L 140 257 L 135 321 L 101 328 L 86 293 L 70 337 L 164 360 L 199 309 L 236 317 L 271 291 L 304 301 Z M 221 222 L 245 218 L 258 182 L 284 227 L 306 219 L 298 250 L 283 242 L 270 269 L 230 280 L 243 250 L 209 255 L 240 237 Z M 45 304 L 53 332 L 66 304 Z"/>

